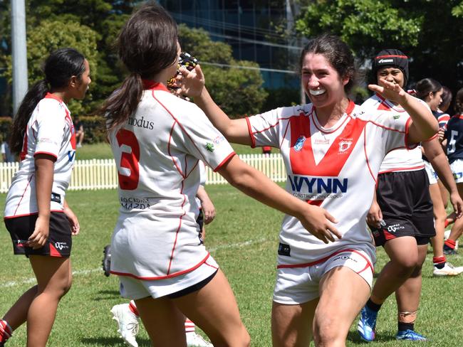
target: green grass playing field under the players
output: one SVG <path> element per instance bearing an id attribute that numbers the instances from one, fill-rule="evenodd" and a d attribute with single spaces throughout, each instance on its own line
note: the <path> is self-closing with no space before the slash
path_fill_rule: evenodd
<path id="1" fill-rule="evenodd" d="M 271 346 L 271 296 L 281 214 L 230 186 L 207 186 L 207 191 L 217 208 L 217 218 L 207 228 L 207 247 L 234 289 L 252 346 Z M 4 198 L 0 196 L 1 210 Z M 105 277 L 100 269 L 103 246 L 110 241 L 117 217 L 117 192 L 69 192 L 67 200 L 80 218 L 81 233 L 74 238 L 73 287 L 58 307 L 48 346 L 123 346 L 109 311 L 123 302 L 118 293 L 118 279 Z M 26 257 L 12 255 L 11 240 L 3 223 L 0 229 L 1 315 L 34 280 Z M 417 331 L 431 342 L 395 341 L 396 306 L 395 299 L 390 297 L 380 311 L 378 341 L 371 346 L 463 346 L 463 277 L 432 278 L 431 258 L 428 255 L 424 267 L 422 303 L 416 324 Z M 459 255 L 449 260 L 463 265 L 463 257 Z M 385 253 L 379 250 L 378 271 L 385 261 Z M 348 336 L 348 346 L 366 344 L 358 338 L 356 323 L 357 320 Z M 21 326 L 6 346 L 25 346 L 25 338 L 26 329 Z M 140 346 L 150 346 L 144 329 L 140 329 L 137 341 Z"/>

